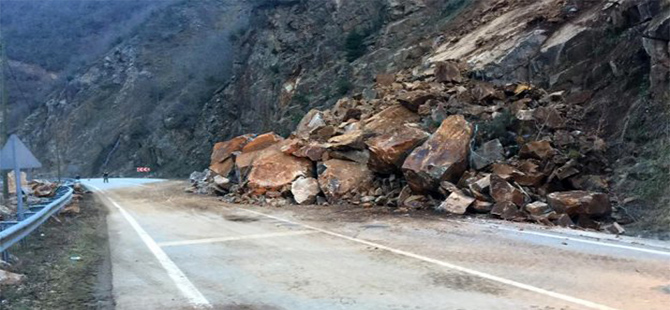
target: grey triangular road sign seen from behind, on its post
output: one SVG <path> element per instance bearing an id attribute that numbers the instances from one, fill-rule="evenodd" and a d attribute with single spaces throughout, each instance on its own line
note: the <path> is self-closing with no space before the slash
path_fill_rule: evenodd
<path id="1" fill-rule="evenodd" d="M 16 183 L 16 219 L 23 220 L 23 191 L 21 188 L 21 169 L 40 168 L 42 164 L 28 150 L 19 137 L 12 135 L 0 151 L 0 169 L 14 170 Z"/>

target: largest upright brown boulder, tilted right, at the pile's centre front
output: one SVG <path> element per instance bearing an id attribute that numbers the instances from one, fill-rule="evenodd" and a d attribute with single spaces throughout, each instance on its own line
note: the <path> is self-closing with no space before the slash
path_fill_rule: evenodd
<path id="1" fill-rule="evenodd" d="M 472 126 L 462 115 L 447 117 L 440 128 L 405 160 L 402 171 L 413 191 L 436 191 L 440 181 L 458 181 L 468 167 Z"/>

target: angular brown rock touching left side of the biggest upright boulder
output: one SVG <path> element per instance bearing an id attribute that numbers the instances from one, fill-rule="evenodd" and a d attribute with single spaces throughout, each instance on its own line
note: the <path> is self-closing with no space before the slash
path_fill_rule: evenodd
<path id="1" fill-rule="evenodd" d="M 409 153 L 429 136 L 430 134 L 421 129 L 405 125 L 368 140 L 366 144 L 370 149 L 370 169 L 378 173 L 399 170 Z"/>

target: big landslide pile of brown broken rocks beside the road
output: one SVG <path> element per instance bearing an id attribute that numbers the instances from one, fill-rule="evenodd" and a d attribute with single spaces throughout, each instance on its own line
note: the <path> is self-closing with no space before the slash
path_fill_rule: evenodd
<path id="1" fill-rule="evenodd" d="M 581 126 L 589 94 L 496 86 L 464 67 L 379 75 L 374 90 L 309 111 L 287 139 L 217 143 L 188 190 L 236 203 L 437 208 L 597 228 L 612 206 L 605 143 Z"/>

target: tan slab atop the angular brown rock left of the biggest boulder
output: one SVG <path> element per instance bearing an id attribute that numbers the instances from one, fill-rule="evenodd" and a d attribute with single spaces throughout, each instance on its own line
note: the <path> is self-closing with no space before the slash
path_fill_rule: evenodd
<path id="1" fill-rule="evenodd" d="M 363 130 L 366 134 L 383 135 L 404 124 L 416 123 L 419 119 L 418 114 L 401 105 L 394 105 L 364 120 Z"/>

